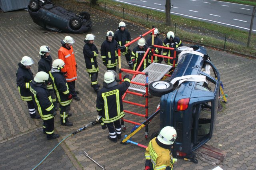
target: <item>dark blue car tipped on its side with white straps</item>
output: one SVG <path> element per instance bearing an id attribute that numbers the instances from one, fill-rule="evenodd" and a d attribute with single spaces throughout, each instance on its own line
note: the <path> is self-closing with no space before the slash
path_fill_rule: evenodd
<path id="1" fill-rule="evenodd" d="M 166 126 L 176 129 L 174 157 L 197 163 L 194 151 L 210 140 L 214 132 L 220 73 L 207 54 L 198 51 L 181 54 L 170 79 L 150 83 L 149 92 L 161 97 L 160 130 Z"/>

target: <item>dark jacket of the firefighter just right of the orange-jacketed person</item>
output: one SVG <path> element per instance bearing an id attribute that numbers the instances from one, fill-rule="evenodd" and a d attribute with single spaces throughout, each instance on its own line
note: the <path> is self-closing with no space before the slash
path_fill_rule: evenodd
<path id="1" fill-rule="evenodd" d="M 86 71 L 88 73 L 96 73 L 99 71 L 97 56 L 98 49 L 94 44 L 86 43 L 83 49 Z"/>

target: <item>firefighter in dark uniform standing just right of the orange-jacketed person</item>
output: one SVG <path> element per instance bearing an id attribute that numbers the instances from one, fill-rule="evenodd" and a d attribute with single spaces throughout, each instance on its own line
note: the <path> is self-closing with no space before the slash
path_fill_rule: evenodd
<path id="1" fill-rule="evenodd" d="M 90 76 L 91 79 L 91 86 L 94 89 L 96 93 L 99 91 L 100 85 L 98 85 L 98 62 L 97 62 L 97 56 L 99 54 L 98 49 L 96 45 L 94 45 L 94 35 L 93 34 L 87 34 L 86 38 L 84 40 L 85 45 L 83 49 L 84 53 L 84 60 L 86 65 L 86 71 Z"/>

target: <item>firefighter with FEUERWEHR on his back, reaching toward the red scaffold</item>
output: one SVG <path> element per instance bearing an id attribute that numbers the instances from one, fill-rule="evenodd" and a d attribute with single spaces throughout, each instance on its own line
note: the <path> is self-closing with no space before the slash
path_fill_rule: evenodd
<path id="1" fill-rule="evenodd" d="M 129 75 L 123 77 L 124 83 L 117 85 L 116 72 L 113 70 L 106 71 L 104 74 L 103 88 L 100 89 L 96 100 L 96 109 L 98 116 L 102 116 L 102 129 L 108 127 L 108 139 L 117 142 L 120 139 L 121 124 L 120 119 L 124 117 L 124 108 L 122 103 L 122 95 L 130 86 Z"/>

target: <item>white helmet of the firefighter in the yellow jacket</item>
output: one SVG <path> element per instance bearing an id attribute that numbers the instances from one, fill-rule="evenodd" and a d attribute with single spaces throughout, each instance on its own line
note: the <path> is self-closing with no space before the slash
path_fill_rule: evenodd
<path id="1" fill-rule="evenodd" d="M 157 139 L 162 144 L 173 144 L 177 137 L 177 132 L 173 127 L 164 127 L 157 136 Z"/>

